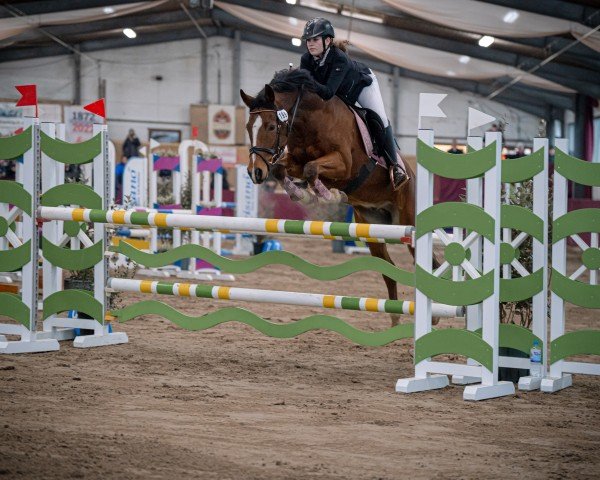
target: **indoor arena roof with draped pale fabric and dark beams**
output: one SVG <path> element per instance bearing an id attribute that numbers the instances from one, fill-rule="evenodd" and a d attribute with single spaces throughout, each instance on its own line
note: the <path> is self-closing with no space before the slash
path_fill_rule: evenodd
<path id="1" fill-rule="evenodd" d="M 444 10 L 440 8 L 444 7 Z M 240 31 L 299 53 L 292 39 L 323 16 L 374 69 L 494 98 L 530 113 L 600 98 L 595 0 L 56 0 L 0 5 L 0 62 Z M 137 37 L 123 35 L 123 28 Z M 493 37 L 491 45 L 480 42 Z"/>

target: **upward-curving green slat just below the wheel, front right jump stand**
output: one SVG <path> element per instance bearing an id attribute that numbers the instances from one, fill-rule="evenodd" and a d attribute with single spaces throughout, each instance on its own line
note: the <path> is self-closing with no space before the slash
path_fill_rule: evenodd
<path id="1" fill-rule="evenodd" d="M 454 282 L 434 277 L 417 265 L 416 280 L 417 288 L 421 292 L 446 305 L 474 305 L 494 293 L 494 272 L 488 272 L 476 279 Z"/>

